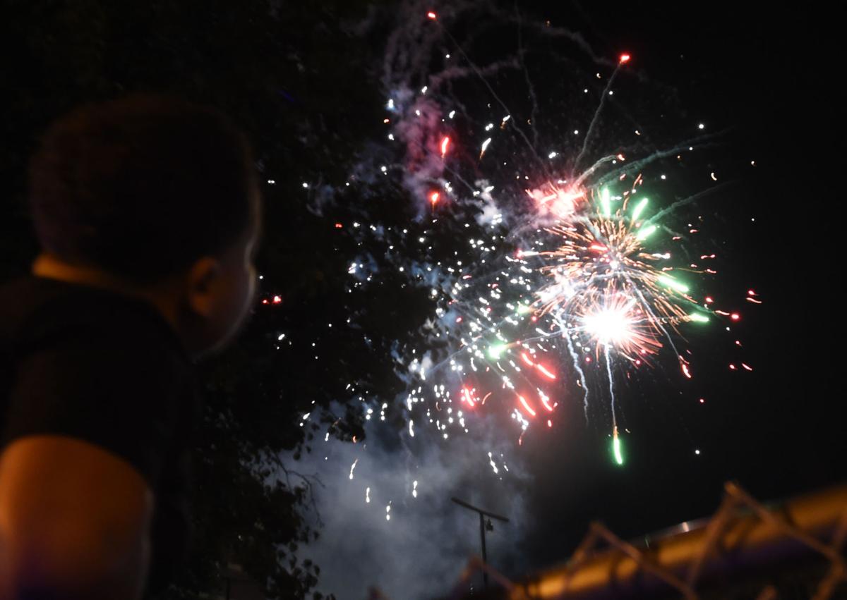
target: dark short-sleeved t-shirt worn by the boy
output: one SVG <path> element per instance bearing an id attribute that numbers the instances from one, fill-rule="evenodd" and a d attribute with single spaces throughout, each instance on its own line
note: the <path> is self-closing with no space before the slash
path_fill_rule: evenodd
<path id="1" fill-rule="evenodd" d="M 139 472 L 156 498 L 147 596 L 184 558 L 199 411 L 191 360 L 152 305 L 47 278 L 0 286 L 0 449 L 64 435 Z"/>

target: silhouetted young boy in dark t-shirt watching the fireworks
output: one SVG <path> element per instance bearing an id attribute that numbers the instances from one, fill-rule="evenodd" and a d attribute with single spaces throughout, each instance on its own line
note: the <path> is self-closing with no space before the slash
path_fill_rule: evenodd
<path id="1" fill-rule="evenodd" d="M 154 96 L 82 107 L 30 164 L 42 252 L 0 288 L 0 598 L 137 598 L 188 535 L 192 361 L 244 321 L 246 140 Z"/>

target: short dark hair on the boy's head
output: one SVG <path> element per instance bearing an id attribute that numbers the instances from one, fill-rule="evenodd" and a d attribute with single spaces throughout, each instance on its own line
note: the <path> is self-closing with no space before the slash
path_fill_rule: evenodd
<path id="1" fill-rule="evenodd" d="M 255 194 L 241 131 L 167 96 L 80 107 L 47 129 L 30 162 L 42 249 L 139 283 L 235 243 L 255 218 Z"/>

